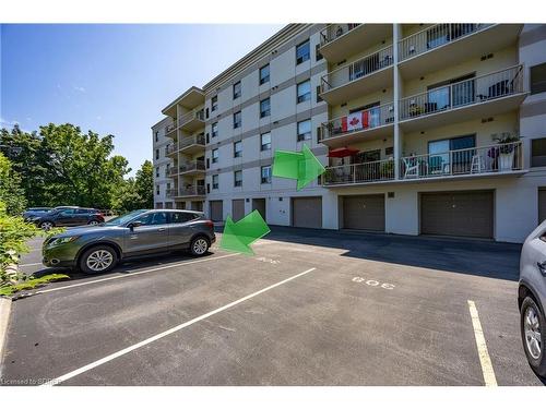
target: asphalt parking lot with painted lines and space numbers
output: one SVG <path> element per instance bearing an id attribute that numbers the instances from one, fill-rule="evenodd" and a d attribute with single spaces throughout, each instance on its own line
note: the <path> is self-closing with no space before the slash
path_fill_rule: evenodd
<path id="1" fill-rule="evenodd" d="M 43 274 L 32 245 L 22 268 Z M 274 228 L 253 249 L 145 258 L 15 301 L 1 377 L 543 385 L 521 346 L 519 245 Z"/>

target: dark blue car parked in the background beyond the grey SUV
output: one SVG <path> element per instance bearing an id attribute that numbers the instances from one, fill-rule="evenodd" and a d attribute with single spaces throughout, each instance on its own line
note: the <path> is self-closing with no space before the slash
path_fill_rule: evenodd
<path id="1" fill-rule="evenodd" d="M 52 227 L 100 225 L 104 222 L 104 216 L 96 208 L 59 206 L 51 212 L 31 217 L 28 221 L 36 224 L 44 230 L 49 230 Z"/>

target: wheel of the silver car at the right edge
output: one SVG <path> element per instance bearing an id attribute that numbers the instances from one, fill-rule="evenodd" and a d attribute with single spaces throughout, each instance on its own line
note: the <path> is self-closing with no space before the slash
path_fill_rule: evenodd
<path id="1" fill-rule="evenodd" d="M 521 338 L 527 361 L 538 375 L 546 376 L 545 318 L 535 300 L 526 297 L 521 304 Z"/>

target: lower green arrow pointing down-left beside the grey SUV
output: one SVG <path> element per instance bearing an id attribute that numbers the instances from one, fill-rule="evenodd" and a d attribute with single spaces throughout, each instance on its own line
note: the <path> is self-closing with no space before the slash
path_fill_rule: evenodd
<path id="1" fill-rule="evenodd" d="M 219 248 L 236 253 L 253 255 L 254 252 L 250 248 L 250 244 L 270 231 L 270 228 L 258 210 L 249 213 L 237 222 L 227 216 Z"/>

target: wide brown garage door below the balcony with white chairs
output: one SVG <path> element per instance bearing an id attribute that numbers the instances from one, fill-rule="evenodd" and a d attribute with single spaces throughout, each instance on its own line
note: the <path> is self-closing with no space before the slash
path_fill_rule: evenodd
<path id="1" fill-rule="evenodd" d="M 491 191 L 435 192 L 420 195 L 423 234 L 492 238 Z"/>

